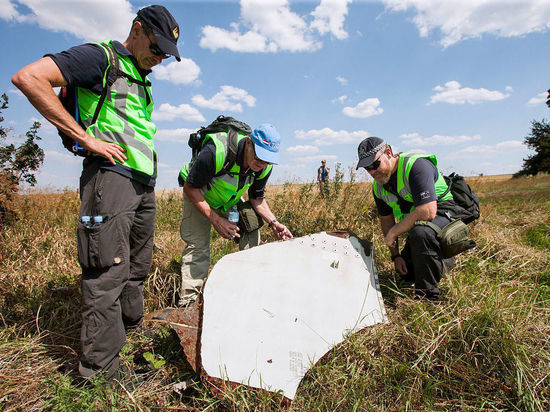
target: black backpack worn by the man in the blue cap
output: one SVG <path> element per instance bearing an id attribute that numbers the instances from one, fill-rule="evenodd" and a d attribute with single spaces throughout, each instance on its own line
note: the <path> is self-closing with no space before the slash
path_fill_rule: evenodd
<path id="1" fill-rule="evenodd" d="M 252 129 L 249 125 L 239 120 L 234 119 L 231 116 L 220 115 L 206 127 L 201 127 L 195 133 L 189 135 L 189 147 L 192 151 L 191 162 L 197 157 L 202 146 L 204 145 L 204 138 L 207 134 L 215 134 L 219 132 L 226 132 L 229 138 L 228 153 L 225 157 L 225 164 L 220 172 L 216 176 L 226 174 L 237 160 L 237 146 L 238 146 L 238 134 L 244 133 L 250 135 Z"/>

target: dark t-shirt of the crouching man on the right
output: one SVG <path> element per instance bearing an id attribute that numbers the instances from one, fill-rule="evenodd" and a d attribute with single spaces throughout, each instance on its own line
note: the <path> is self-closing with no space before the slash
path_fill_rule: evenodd
<path id="1" fill-rule="evenodd" d="M 437 201 L 435 192 L 435 182 L 439 177 L 439 173 L 435 165 L 428 159 L 418 158 L 411 167 L 409 173 L 409 185 L 413 197 L 414 207 Z M 397 171 L 391 175 L 390 181 L 384 185 L 384 188 L 392 193 L 397 193 Z M 402 201 L 399 197 L 398 203 L 403 213 L 409 213 L 411 203 Z M 388 216 L 393 213 L 393 209 L 388 206 L 383 200 L 374 196 L 376 208 L 380 216 Z"/>

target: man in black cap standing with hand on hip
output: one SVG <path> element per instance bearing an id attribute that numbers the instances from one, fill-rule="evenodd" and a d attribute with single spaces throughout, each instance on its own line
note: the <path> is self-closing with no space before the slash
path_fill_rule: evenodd
<path id="1" fill-rule="evenodd" d="M 157 176 L 147 75 L 170 56 L 180 60 L 178 37 L 179 26 L 170 12 L 149 6 L 138 11 L 123 43 L 88 43 L 48 54 L 12 78 L 36 109 L 85 154 L 77 229 L 82 267 L 79 371 L 84 377 L 99 372 L 114 377 L 125 330 L 141 327 Z M 108 70 L 117 63 L 118 70 Z M 116 76 L 107 89 L 104 78 L 111 73 Z M 75 96 L 78 118 L 57 98 L 56 86 Z M 96 223 L 89 224 L 90 219 Z"/>

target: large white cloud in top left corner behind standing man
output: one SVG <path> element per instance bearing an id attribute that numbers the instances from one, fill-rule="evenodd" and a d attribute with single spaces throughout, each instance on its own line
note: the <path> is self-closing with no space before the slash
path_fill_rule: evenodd
<path id="1" fill-rule="evenodd" d="M 30 9 L 17 9 L 17 3 Z M 73 34 L 85 41 L 126 40 L 135 13 L 127 0 L 0 0 L 0 18 Z"/>

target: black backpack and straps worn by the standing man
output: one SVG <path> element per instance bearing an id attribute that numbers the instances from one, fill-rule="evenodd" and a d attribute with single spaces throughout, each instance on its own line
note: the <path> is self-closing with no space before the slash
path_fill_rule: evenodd
<path id="1" fill-rule="evenodd" d="M 105 98 L 107 97 L 107 93 L 109 93 L 109 90 L 111 89 L 111 86 L 114 84 L 114 82 L 120 78 L 125 77 L 132 83 L 139 84 L 141 86 L 147 87 L 151 85 L 151 82 L 148 80 L 143 82 L 138 79 L 134 79 L 132 76 L 124 73 L 122 70 L 119 69 L 119 61 L 118 61 L 118 55 L 110 44 L 108 45 L 100 45 L 101 47 L 105 48 L 108 52 L 109 56 L 109 64 L 106 69 L 106 81 L 105 81 L 105 87 L 103 87 L 101 91 L 101 95 L 99 97 L 99 101 L 97 102 L 97 106 L 94 112 L 94 116 L 92 117 L 92 124 L 94 124 L 97 121 L 97 118 L 99 116 L 99 112 L 101 111 L 101 107 L 103 106 L 103 102 L 105 102 Z M 104 75 L 105 75 L 104 74 Z M 57 95 L 59 100 L 61 101 L 61 104 L 63 107 L 75 118 L 77 123 L 82 127 L 85 128 L 82 121 L 80 120 L 80 113 L 78 112 L 78 89 L 75 86 L 63 86 L 61 90 L 59 91 L 59 94 Z M 63 133 L 61 130 L 57 129 L 57 132 L 59 136 L 61 137 L 61 140 L 63 141 L 63 146 L 74 154 L 75 156 L 87 156 L 89 152 L 84 149 L 82 146 L 80 146 L 77 142 L 75 142 L 73 139 L 71 139 L 69 136 L 67 136 L 65 133 Z"/>

